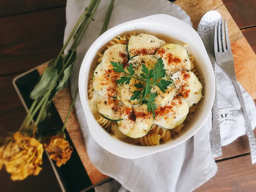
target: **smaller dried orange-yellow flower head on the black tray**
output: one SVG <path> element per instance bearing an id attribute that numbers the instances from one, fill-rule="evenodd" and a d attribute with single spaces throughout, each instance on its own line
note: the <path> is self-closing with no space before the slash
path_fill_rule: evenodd
<path id="1" fill-rule="evenodd" d="M 69 142 L 64 139 L 64 135 L 54 135 L 50 139 L 44 139 L 44 148 L 50 154 L 50 158 L 56 161 L 56 165 L 60 167 L 69 160 L 73 148 Z"/>

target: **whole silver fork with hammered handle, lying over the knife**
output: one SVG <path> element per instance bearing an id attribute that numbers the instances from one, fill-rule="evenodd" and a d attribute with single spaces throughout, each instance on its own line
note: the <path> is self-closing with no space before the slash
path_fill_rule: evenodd
<path id="1" fill-rule="evenodd" d="M 225 33 L 224 33 L 225 28 Z M 218 31 L 218 32 L 217 32 Z M 215 34 L 214 34 L 214 51 L 217 64 L 223 69 L 227 75 L 231 78 L 235 90 L 241 104 L 243 111 L 243 117 L 245 118 L 245 127 L 246 133 L 249 140 L 250 153 L 251 153 L 251 162 L 256 163 L 256 140 L 253 134 L 253 129 L 251 127 L 250 119 L 248 117 L 245 102 L 243 100 L 242 92 L 239 87 L 237 77 L 235 75 L 234 68 L 234 58 L 230 47 L 229 34 L 227 32 L 227 21 L 225 19 L 225 26 L 222 22 L 215 24 Z M 241 55 L 242 56 L 242 55 Z"/>

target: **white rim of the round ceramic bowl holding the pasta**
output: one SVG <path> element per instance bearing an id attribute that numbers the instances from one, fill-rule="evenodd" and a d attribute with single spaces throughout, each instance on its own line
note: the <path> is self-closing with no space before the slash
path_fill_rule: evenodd
<path id="1" fill-rule="evenodd" d="M 206 65 L 206 68 L 208 70 L 208 77 L 211 79 L 210 82 L 208 82 L 208 85 L 210 86 L 210 92 L 209 97 L 207 98 L 207 106 L 204 110 L 204 113 L 199 117 L 199 121 L 195 123 L 194 126 L 192 126 L 189 130 L 187 130 L 186 133 L 181 135 L 179 138 L 169 142 L 165 143 L 163 145 L 158 146 L 136 146 L 131 145 L 125 142 L 122 142 L 114 137 L 112 137 L 110 134 L 108 134 L 96 121 L 93 114 L 91 113 L 89 103 L 88 101 L 88 75 L 89 75 L 89 69 L 91 66 L 91 62 L 93 61 L 95 55 L 98 52 L 98 49 L 101 48 L 103 45 L 105 45 L 109 40 L 113 39 L 119 34 L 122 34 L 124 32 L 133 31 L 134 26 L 140 25 L 155 25 L 155 26 L 162 26 L 171 28 L 171 26 L 179 26 L 177 30 L 179 30 L 179 33 L 185 33 L 189 34 L 190 36 L 193 36 L 193 41 L 196 40 L 195 46 L 200 47 L 200 53 L 201 53 L 201 59 Z M 123 31 L 122 31 L 123 30 Z M 122 31 L 122 32 L 119 32 Z M 117 34 L 119 33 L 119 34 Z M 145 30 L 146 33 L 146 30 Z M 186 36 L 183 36 L 186 37 Z M 107 39 L 107 41 L 106 41 Z M 143 157 L 145 155 L 157 153 L 159 151 L 163 151 L 166 149 L 170 149 L 174 146 L 177 146 L 183 142 L 185 142 L 187 139 L 191 138 L 204 124 L 204 122 L 207 120 L 208 115 L 212 109 L 213 102 L 214 102 L 214 96 L 215 96 L 215 76 L 214 71 L 210 62 L 210 59 L 208 57 L 208 54 L 206 52 L 205 46 L 203 45 L 203 42 L 200 38 L 200 36 L 197 34 L 197 32 L 189 26 L 187 23 L 181 21 L 178 18 L 175 18 L 171 15 L 166 14 L 155 14 L 150 15 L 147 17 L 135 19 L 132 21 L 128 21 L 122 24 L 119 24 L 109 30 L 107 30 L 105 33 L 103 33 L 100 37 L 98 37 L 94 43 L 90 46 L 87 53 L 85 54 L 85 57 L 82 61 L 80 71 L 79 71 L 79 80 L 78 80 L 78 86 L 79 86 L 79 96 L 81 99 L 81 104 L 83 111 L 85 113 L 87 126 L 89 128 L 89 131 L 94 138 L 94 140 L 102 146 L 104 149 L 109 151 L 110 153 L 113 153 L 117 156 L 123 157 L 123 158 L 139 158 Z"/>

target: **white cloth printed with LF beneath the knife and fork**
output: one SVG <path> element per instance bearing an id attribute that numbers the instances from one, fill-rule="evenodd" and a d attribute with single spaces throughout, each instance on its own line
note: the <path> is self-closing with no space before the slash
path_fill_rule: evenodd
<path id="1" fill-rule="evenodd" d="M 221 145 L 225 146 L 237 139 L 238 137 L 246 134 L 245 119 L 243 118 L 241 105 L 231 79 L 216 63 L 215 76 L 218 97 Z M 251 96 L 245 91 L 240 83 L 239 86 L 242 91 L 246 110 L 251 121 L 251 126 L 254 129 L 256 126 L 255 104 Z M 212 114 L 210 114 L 209 117 L 209 128 L 210 130 L 212 129 Z"/>

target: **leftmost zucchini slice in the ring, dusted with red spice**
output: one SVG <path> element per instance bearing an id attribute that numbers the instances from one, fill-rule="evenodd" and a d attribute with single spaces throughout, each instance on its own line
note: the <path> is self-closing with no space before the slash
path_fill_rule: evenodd
<path id="1" fill-rule="evenodd" d="M 114 79 L 107 77 L 102 70 L 101 63 L 96 67 L 93 73 L 93 89 L 102 96 L 115 97 L 117 83 Z"/>

